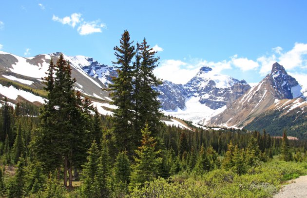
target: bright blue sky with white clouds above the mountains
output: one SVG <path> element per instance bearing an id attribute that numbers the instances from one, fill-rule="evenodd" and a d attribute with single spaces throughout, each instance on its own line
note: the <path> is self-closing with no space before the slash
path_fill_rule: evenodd
<path id="1" fill-rule="evenodd" d="M 210 66 L 254 85 L 277 61 L 307 87 L 306 8 L 306 0 L 3 0 L 0 50 L 111 65 L 128 30 L 157 51 L 161 79 L 184 84 Z"/>

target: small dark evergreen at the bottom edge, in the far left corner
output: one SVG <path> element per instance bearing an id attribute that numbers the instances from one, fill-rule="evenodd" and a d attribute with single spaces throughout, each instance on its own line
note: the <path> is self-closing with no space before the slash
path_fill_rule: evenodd
<path id="1" fill-rule="evenodd" d="M 7 197 L 23 198 L 25 195 L 25 160 L 19 158 L 14 178 L 9 182 Z"/>

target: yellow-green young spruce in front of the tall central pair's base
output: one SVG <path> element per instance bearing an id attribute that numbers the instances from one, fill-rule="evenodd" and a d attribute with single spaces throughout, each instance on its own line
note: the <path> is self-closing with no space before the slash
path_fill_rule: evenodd
<path id="1" fill-rule="evenodd" d="M 137 157 L 135 157 L 135 165 L 131 174 L 131 181 L 129 190 L 133 190 L 138 186 L 143 186 L 146 181 L 153 181 L 158 176 L 159 164 L 162 162 L 157 155 L 160 150 L 155 151 L 156 141 L 151 136 L 148 124 L 142 130 L 142 145 L 135 150 Z"/>

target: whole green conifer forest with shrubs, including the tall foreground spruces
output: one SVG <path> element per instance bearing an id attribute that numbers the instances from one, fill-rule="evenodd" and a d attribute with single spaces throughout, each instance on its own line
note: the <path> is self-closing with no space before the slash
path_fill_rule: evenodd
<path id="1" fill-rule="evenodd" d="M 276 139 L 265 131 L 165 125 L 152 89 L 161 83 L 155 52 L 145 39 L 134 46 L 128 31 L 114 49 L 112 117 L 74 91 L 62 55 L 44 78 L 43 106 L 4 99 L 1 196 L 268 197 L 281 181 L 306 173 L 307 142 L 286 132 Z"/>

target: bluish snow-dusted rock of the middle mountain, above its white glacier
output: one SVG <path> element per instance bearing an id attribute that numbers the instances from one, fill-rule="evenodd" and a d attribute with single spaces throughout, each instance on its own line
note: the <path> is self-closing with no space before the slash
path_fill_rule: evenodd
<path id="1" fill-rule="evenodd" d="M 186 101 L 198 97 L 200 104 L 216 110 L 230 104 L 250 88 L 245 80 L 239 81 L 217 74 L 210 67 L 202 67 L 185 85 L 164 81 L 157 90 L 162 109 L 174 111 L 186 109 Z"/>

